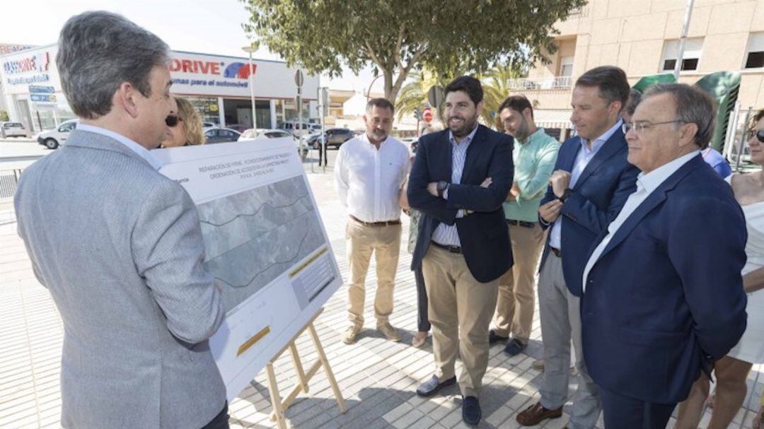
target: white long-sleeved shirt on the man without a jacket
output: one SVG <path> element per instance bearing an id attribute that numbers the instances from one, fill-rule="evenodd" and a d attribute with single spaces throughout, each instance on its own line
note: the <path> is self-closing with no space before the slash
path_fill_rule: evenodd
<path id="1" fill-rule="evenodd" d="M 387 137 L 379 150 L 366 134 L 353 137 L 339 148 L 335 185 L 348 214 L 364 222 L 400 218 L 400 189 L 409 174 L 409 150 Z"/>

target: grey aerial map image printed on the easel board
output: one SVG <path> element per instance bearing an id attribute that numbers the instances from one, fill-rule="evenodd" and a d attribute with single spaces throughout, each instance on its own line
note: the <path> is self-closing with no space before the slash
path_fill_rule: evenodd
<path id="1" fill-rule="evenodd" d="M 323 244 L 322 224 L 303 176 L 197 206 L 205 266 L 231 311 Z"/>

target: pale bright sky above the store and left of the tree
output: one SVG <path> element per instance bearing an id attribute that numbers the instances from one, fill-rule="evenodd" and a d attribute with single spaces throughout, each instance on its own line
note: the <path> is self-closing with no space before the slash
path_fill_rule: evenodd
<path id="1" fill-rule="evenodd" d="M 157 34 L 172 50 L 247 57 L 241 47 L 250 44 L 241 24 L 248 19 L 238 0 L 7 0 L 3 10 L 12 10 L 12 19 L 0 24 L 2 44 L 55 44 L 61 27 L 71 16 L 83 11 L 105 10 L 125 16 Z M 254 58 L 281 60 L 261 46 Z M 372 69 L 359 76 L 349 70 L 338 79 L 322 76 L 321 85 L 331 89 L 366 92 L 374 79 Z M 382 79 L 372 92 L 383 92 Z"/>

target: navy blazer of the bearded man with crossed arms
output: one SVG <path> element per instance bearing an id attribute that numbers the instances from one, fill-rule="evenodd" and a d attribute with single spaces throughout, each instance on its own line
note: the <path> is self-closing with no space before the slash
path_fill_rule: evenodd
<path id="1" fill-rule="evenodd" d="M 448 200 L 427 192 L 429 182 L 451 182 L 452 144 L 448 129 L 419 139 L 409 176 L 409 204 L 422 212 L 414 248 L 412 269 L 422 263 L 432 232 L 444 223 L 456 224 L 467 266 L 478 282 L 498 279 L 512 266 L 507 222 L 501 203 L 512 186 L 512 142 L 507 134 L 480 125 L 467 150 L 461 183 L 448 187 Z M 491 185 L 481 183 L 491 178 Z M 456 218 L 459 209 L 474 211 Z"/>

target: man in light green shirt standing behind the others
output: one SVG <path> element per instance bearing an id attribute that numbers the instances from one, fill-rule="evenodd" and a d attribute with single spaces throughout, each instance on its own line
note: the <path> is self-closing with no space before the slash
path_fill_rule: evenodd
<path id="1" fill-rule="evenodd" d="M 523 95 L 513 95 L 499 106 L 507 134 L 515 137 L 515 176 L 504 202 L 510 227 L 514 265 L 499 279 L 494 329 L 489 342 L 509 340 L 504 352 L 510 356 L 528 345 L 536 292 L 536 267 L 544 245 L 545 231 L 539 226 L 539 203 L 549 184 L 560 144 L 533 121 L 533 106 Z M 510 339 L 511 334 L 511 339 Z"/>

